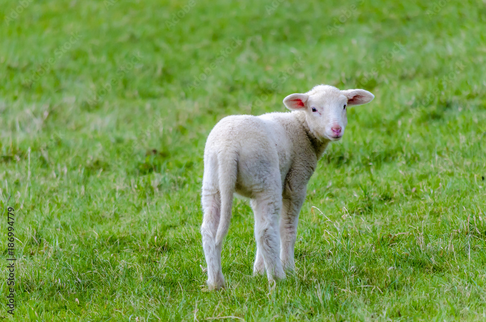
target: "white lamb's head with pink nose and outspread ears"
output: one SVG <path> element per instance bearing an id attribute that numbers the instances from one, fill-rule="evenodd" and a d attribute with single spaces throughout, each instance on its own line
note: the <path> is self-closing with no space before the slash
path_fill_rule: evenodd
<path id="1" fill-rule="evenodd" d="M 346 110 L 350 106 L 369 103 L 375 96 L 364 89 L 339 90 L 318 85 L 305 94 L 291 94 L 283 100 L 290 110 L 305 113 L 307 125 L 320 140 L 337 141 L 347 125 Z"/>

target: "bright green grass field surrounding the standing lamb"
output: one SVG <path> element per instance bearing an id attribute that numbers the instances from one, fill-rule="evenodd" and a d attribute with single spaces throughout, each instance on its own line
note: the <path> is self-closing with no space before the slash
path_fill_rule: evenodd
<path id="1" fill-rule="evenodd" d="M 14 320 L 486 319 L 483 4 L 0 4 Z M 205 291 L 209 131 L 226 115 L 285 111 L 286 95 L 322 83 L 376 98 L 349 110 L 318 163 L 295 276 L 275 288 L 251 276 L 252 212 L 236 199 L 228 288 Z M 9 317 L 6 212 L 0 227 Z"/>

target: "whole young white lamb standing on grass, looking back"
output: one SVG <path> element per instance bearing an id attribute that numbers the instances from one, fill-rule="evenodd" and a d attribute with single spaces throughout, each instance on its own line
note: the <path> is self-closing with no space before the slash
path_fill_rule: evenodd
<path id="1" fill-rule="evenodd" d="M 291 94 L 283 104 L 292 112 L 223 118 L 204 150 L 201 234 L 208 288 L 226 287 L 221 251 L 234 193 L 250 198 L 257 251 L 253 274 L 269 281 L 295 270 L 297 221 L 307 182 L 331 141 L 343 137 L 348 106 L 369 103 L 364 89 L 318 85 Z"/>

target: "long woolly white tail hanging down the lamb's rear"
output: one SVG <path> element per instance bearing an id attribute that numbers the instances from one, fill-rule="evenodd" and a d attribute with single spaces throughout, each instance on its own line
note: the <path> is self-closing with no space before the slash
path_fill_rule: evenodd
<path id="1" fill-rule="evenodd" d="M 221 215 L 216 231 L 216 245 L 220 245 L 228 233 L 238 172 L 238 154 L 234 152 L 218 155 L 218 179 L 221 194 Z"/>

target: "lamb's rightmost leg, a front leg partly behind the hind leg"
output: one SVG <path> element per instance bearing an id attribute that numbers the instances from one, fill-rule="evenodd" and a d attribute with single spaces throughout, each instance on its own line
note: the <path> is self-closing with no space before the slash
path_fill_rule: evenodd
<path id="1" fill-rule="evenodd" d="M 294 250 L 297 238 L 299 212 L 305 199 L 305 191 L 283 199 L 280 217 L 280 259 L 284 270 L 294 271 Z"/>

